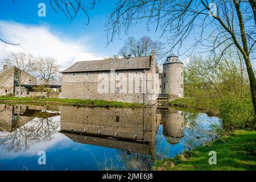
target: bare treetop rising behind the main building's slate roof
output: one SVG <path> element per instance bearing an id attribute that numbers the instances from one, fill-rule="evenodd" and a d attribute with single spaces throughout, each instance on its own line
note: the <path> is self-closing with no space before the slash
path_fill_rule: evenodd
<path id="1" fill-rule="evenodd" d="M 153 41 L 149 36 L 143 36 L 139 40 L 129 37 L 125 40 L 124 46 L 119 50 L 118 54 L 123 57 L 128 55 L 135 57 L 148 56 L 152 50 L 155 50 L 156 57 L 160 57 L 163 54 L 163 44 L 159 41 Z"/>

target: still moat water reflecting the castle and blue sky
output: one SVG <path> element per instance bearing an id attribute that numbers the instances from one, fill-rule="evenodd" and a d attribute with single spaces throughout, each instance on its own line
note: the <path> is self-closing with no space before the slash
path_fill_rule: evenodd
<path id="1" fill-rule="evenodd" d="M 0 170 L 150 170 L 216 138 L 219 125 L 171 107 L 0 105 Z"/>

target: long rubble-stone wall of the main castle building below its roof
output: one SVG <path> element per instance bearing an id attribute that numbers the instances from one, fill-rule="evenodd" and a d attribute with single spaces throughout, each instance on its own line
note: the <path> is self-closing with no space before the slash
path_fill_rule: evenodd
<path id="1" fill-rule="evenodd" d="M 137 72 L 137 76 L 135 76 L 135 72 Z M 156 84 L 156 81 L 151 78 L 150 81 L 148 79 L 147 83 L 143 84 L 143 71 L 118 71 L 119 76 L 115 76 L 115 82 L 110 81 L 112 77 L 110 71 L 101 73 L 63 74 L 62 98 L 155 104 L 156 92 L 148 88 L 154 88 L 150 85 Z M 151 77 L 155 76 L 152 75 L 154 73 L 152 70 L 147 70 L 145 73 L 146 75 L 150 73 Z M 86 76 L 86 74 L 88 75 Z M 102 80 L 105 80 L 105 82 Z M 119 93 L 116 92 L 117 87 L 119 87 Z M 145 95 L 143 90 L 146 92 Z"/>

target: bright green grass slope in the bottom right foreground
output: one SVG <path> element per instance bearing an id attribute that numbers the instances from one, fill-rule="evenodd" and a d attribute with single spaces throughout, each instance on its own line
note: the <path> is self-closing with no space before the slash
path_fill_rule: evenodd
<path id="1" fill-rule="evenodd" d="M 217 164 L 210 165 L 209 151 L 217 152 Z M 158 160 L 153 170 L 233 171 L 256 170 L 256 131 L 237 130 L 209 142 L 205 146 L 185 151 L 175 158 Z"/>

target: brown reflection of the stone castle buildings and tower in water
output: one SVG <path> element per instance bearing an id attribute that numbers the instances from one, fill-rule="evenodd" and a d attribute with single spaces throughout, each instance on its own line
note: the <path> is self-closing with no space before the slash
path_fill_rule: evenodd
<path id="1" fill-rule="evenodd" d="M 175 145 L 184 136 L 184 115 L 172 108 L 114 108 L 38 105 L 0 105 L 0 131 L 14 133 L 28 125 L 37 126 L 35 118 L 47 119 L 60 115 L 60 127 L 55 130 L 77 143 L 117 148 L 119 150 L 155 154 L 155 139 L 159 125 L 163 135 Z M 37 120 L 38 121 L 38 120 Z M 40 128 L 34 128 L 39 133 Z M 33 129 L 26 132 L 34 132 Z M 43 133 L 44 135 L 44 133 Z M 35 138 L 35 137 L 33 137 Z"/>

